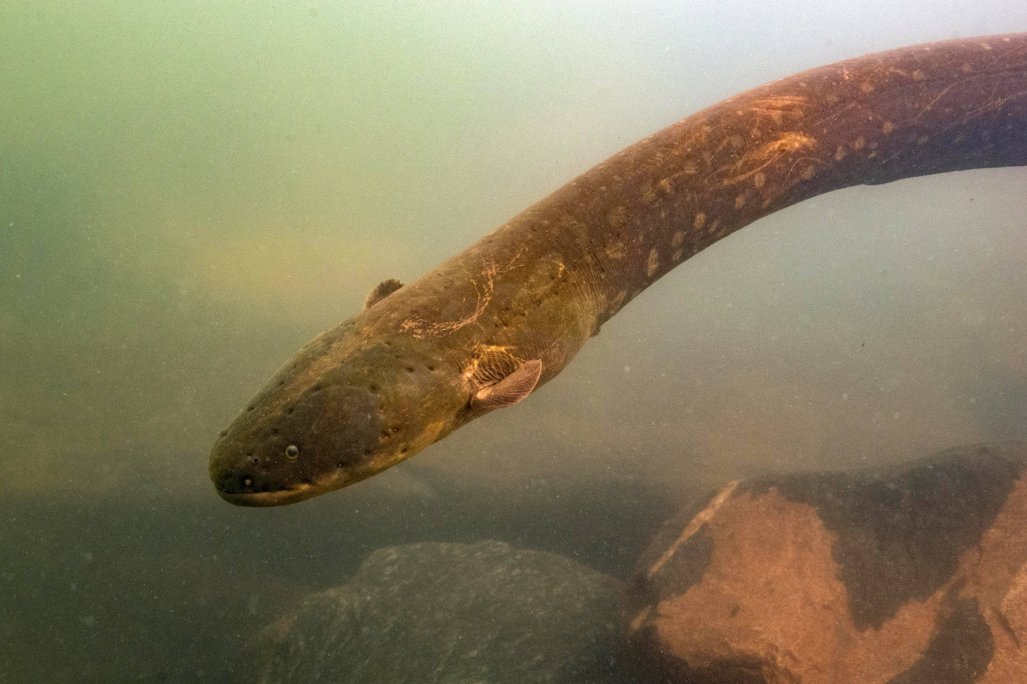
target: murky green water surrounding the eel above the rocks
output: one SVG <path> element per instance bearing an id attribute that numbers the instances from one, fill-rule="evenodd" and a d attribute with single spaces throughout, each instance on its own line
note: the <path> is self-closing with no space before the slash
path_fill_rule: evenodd
<path id="1" fill-rule="evenodd" d="M 235 509 L 206 477 L 379 280 L 756 84 L 1025 26 L 1004 0 L 0 7 L 0 682 L 231 681 L 379 546 L 624 577 L 722 478 L 1027 438 L 1027 174 L 1000 169 L 769 217 L 531 401 L 352 489 Z"/>

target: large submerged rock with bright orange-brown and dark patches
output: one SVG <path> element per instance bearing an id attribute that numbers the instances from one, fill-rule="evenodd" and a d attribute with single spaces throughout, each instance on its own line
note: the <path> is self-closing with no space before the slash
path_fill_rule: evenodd
<path id="1" fill-rule="evenodd" d="M 1009 443 L 732 483 L 643 555 L 631 646 L 661 682 L 1027 682 L 1025 463 Z"/>

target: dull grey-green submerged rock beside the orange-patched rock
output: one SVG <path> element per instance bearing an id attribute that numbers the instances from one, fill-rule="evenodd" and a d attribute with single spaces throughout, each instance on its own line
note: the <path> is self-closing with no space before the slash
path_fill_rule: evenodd
<path id="1" fill-rule="evenodd" d="M 262 684 L 622 682 L 622 584 L 498 541 L 379 548 L 252 649 Z"/>

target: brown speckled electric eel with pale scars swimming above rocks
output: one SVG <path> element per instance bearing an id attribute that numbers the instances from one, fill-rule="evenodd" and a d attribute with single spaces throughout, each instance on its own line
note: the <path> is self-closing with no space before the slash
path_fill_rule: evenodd
<path id="1" fill-rule="evenodd" d="M 831 190 L 1027 163 L 1027 34 L 869 54 L 753 88 L 618 152 L 296 354 L 221 432 L 240 505 L 407 459 L 551 380 L 600 326 L 738 228 Z"/>

